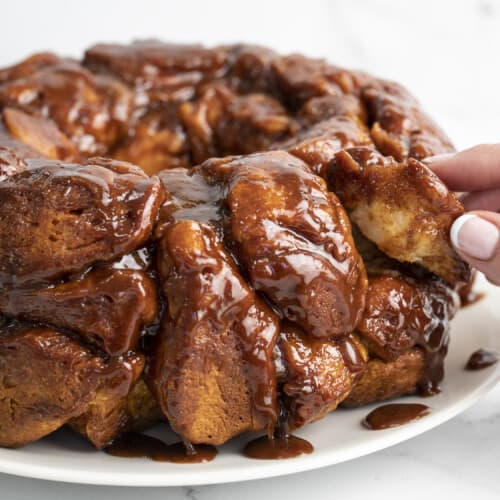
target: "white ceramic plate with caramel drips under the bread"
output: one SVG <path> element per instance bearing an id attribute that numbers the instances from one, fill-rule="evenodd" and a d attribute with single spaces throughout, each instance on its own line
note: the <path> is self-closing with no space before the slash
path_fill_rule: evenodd
<path id="1" fill-rule="evenodd" d="M 206 464 L 176 465 L 129 459 L 97 452 L 70 431 L 52 436 L 19 450 L 0 449 L 0 472 L 74 483 L 117 486 L 180 486 L 213 484 L 291 474 L 332 465 L 382 450 L 421 434 L 449 420 L 485 394 L 500 376 L 500 364 L 467 372 L 463 369 L 476 349 L 500 351 L 500 289 L 483 279 L 479 290 L 486 298 L 462 310 L 453 321 L 446 379 L 438 396 L 426 398 L 431 414 L 413 423 L 382 431 L 361 426 L 363 417 L 375 406 L 337 410 L 298 432 L 315 448 L 311 455 L 290 460 L 251 460 L 241 454 L 250 436 L 222 446 L 216 459 Z M 404 401 L 418 401 L 405 398 Z M 173 436 L 158 428 L 153 434 L 170 442 Z"/>

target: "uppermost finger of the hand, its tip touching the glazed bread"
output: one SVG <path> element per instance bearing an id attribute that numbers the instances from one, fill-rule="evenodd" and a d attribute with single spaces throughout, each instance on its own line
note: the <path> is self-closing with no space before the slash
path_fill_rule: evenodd
<path id="1" fill-rule="evenodd" d="M 452 191 L 500 188 L 500 144 L 481 144 L 459 153 L 427 158 L 424 163 Z"/>

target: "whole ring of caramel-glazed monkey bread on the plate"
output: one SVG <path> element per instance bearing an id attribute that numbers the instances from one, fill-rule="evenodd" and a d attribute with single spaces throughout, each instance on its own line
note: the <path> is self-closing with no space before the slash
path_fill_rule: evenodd
<path id="1" fill-rule="evenodd" d="M 0 445 L 221 444 L 437 390 L 463 207 L 399 85 L 147 40 L 0 69 L 0 113 Z"/>

